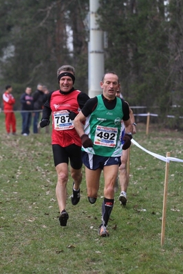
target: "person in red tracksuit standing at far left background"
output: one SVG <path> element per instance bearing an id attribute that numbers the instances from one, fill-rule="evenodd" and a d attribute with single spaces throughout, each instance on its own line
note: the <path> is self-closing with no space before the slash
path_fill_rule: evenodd
<path id="1" fill-rule="evenodd" d="M 14 115 L 13 106 L 15 99 L 12 95 L 12 86 L 6 86 L 6 91 L 3 93 L 3 110 L 5 114 L 6 131 L 8 135 L 12 129 L 12 135 L 16 135 L 16 117 Z"/>

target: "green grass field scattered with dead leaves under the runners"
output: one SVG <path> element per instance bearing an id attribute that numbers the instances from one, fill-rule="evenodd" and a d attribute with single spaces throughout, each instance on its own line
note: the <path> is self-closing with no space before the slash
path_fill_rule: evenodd
<path id="1" fill-rule="evenodd" d="M 80 203 L 75 207 L 72 179 L 67 185 L 67 227 L 58 222 L 56 172 L 50 134 L 7 136 L 0 113 L 0 273 L 183 273 L 183 163 L 169 165 L 164 245 L 161 247 L 165 163 L 135 145 L 130 153 L 127 207 L 115 196 L 109 238 L 98 236 L 103 201 L 103 176 L 98 200 L 87 201 L 85 169 Z M 32 128 L 31 128 L 32 130 Z M 160 125 L 138 124 L 134 139 L 166 157 L 183 159 L 182 133 Z M 142 210 L 146 209 L 146 211 Z"/>

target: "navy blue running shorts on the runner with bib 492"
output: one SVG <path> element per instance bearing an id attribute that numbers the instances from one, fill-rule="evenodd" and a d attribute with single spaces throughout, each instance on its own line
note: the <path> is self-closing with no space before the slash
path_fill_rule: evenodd
<path id="1" fill-rule="evenodd" d="M 83 164 L 89 168 L 89 170 L 97 170 L 100 168 L 103 170 L 104 166 L 107 165 L 120 165 L 120 157 L 104 157 L 99 155 L 94 155 L 92 153 L 87 153 L 82 151 L 82 161 Z"/>

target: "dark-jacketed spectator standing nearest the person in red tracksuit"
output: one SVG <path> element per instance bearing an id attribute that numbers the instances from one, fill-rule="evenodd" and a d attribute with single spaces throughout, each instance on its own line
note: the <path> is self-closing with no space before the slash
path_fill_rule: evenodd
<path id="1" fill-rule="evenodd" d="M 25 93 L 21 95 L 21 116 L 22 116 L 22 131 L 23 136 L 28 136 L 30 134 L 30 125 L 32 120 L 32 110 L 33 110 L 33 97 L 31 95 L 31 87 L 26 87 Z"/>

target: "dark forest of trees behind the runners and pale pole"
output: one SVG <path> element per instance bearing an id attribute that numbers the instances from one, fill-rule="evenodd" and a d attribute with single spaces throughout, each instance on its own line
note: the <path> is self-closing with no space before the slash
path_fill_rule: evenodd
<path id="1" fill-rule="evenodd" d="M 183 2 L 102 0 L 98 21 L 107 34 L 105 71 L 118 73 L 125 99 L 182 129 Z M 25 87 L 58 89 L 65 64 L 87 93 L 88 41 L 89 0 L 0 0 L 0 93 L 11 84 L 20 109 Z"/>

